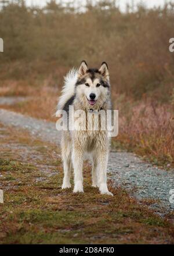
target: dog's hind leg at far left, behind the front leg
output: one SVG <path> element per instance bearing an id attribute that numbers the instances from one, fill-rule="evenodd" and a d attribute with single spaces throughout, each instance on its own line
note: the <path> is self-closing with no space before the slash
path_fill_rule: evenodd
<path id="1" fill-rule="evenodd" d="M 61 189 L 67 189 L 71 187 L 70 184 L 70 173 L 72 168 L 71 162 L 71 143 L 70 140 L 66 140 L 63 138 L 61 141 L 61 158 L 63 161 L 63 169 L 64 169 L 64 178 Z"/>

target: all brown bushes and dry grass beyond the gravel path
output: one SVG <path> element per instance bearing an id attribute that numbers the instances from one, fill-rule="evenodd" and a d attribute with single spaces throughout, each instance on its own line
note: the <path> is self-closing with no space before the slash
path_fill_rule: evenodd
<path id="1" fill-rule="evenodd" d="M 173 166 L 174 62 L 168 41 L 174 6 L 139 6 L 126 13 L 114 1 L 99 1 L 93 8 L 89 4 L 85 13 L 61 7 L 47 5 L 47 12 L 36 13 L 9 5 L 0 11 L 5 41 L 0 95 L 32 96 L 3 107 L 55 122 L 56 98 L 67 70 L 82 59 L 96 67 L 107 61 L 119 109 L 115 147 Z"/>

